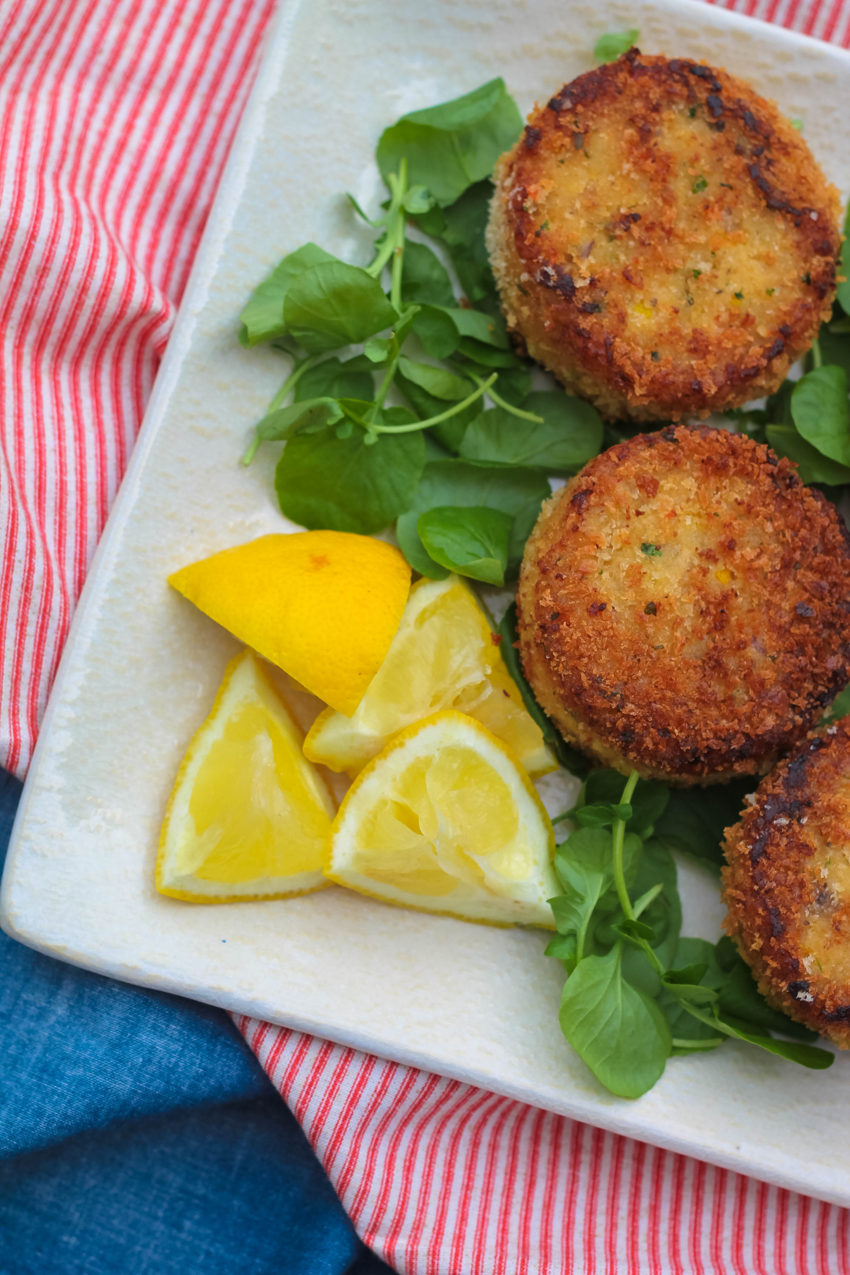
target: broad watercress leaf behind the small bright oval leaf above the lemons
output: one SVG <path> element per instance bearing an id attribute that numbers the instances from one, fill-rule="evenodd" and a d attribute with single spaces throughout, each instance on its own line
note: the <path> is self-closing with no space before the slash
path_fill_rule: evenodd
<path id="1" fill-rule="evenodd" d="M 539 469 L 491 468 L 468 460 L 432 462 L 423 470 L 408 513 L 399 518 L 396 537 L 401 552 L 422 575 L 432 580 L 445 579 L 445 567 L 431 558 L 419 538 L 419 514 L 438 505 L 486 505 L 488 509 L 500 509 L 514 519 L 507 565 L 519 566 L 540 505 L 549 493 L 549 483 Z"/>

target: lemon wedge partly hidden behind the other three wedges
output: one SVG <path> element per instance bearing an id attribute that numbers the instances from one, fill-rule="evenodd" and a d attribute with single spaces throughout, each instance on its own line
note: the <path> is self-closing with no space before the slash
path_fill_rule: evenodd
<path id="1" fill-rule="evenodd" d="M 306 755 L 354 776 L 399 731 L 454 708 L 507 743 L 534 778 L 556 770 L 493 638 L 478 599 L 456 575 L 419 580 L 356 711 L 320 714 Z"/>

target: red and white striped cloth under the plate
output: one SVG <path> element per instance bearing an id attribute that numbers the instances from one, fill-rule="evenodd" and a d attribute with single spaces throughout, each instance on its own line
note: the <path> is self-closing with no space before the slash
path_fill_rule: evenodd
<path id="1" fill-rule="evenodd" d="M 0 6 L 0 765 L 23 776 L 274 0 Z M 729 8 L 850 45 L 850 0 Z M 850 1275 L 850 1213 L 240 1019 L 410 1275 Z"/>

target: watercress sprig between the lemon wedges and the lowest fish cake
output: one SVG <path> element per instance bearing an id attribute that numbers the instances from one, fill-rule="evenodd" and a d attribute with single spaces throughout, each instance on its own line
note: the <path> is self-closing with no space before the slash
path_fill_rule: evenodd
<path id="1" fill-rule="evenodd" d="M 663 788 L 647 784 L 641 792 L 635 771 L 624 787 L 622 775 L 591 771 L 570 812 L 579 822 L 582 812 L 598 824 L 613 820 L 610 834 L 579 827 L 554 861 L 565 894 L 549 900 L 558 937 L 547 955 L 570 975 L 559 1014 L 565 1037 L 624 1098 L 646 1093 L 670 1054 L 715 1049 L 728 1037 L 805 1067 L 828 1067 L 832 1054 L 799 1043 L 812 1034 L 763 1001 L 730 940 L 712 947 L 679 937 L 675 864 L 652 835 L 675 796 L 665 805 Z M 600 803 L 613 796 L 616 803 Z M 796 1040 L 775 1040 L 771 1031 Z"/>

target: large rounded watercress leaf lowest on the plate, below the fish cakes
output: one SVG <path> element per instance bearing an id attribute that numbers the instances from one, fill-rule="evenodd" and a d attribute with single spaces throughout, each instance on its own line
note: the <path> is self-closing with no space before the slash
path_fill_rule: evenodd
<path id="1" fill-rule="evenodd" d="M 666 1019 L 622 974 L 622 945 L 587 956 L 561 997 L 561 1030 L 599 1081 L 621 1098 L 640 1098 L 664 1074 L 672 1037 Z"/>

